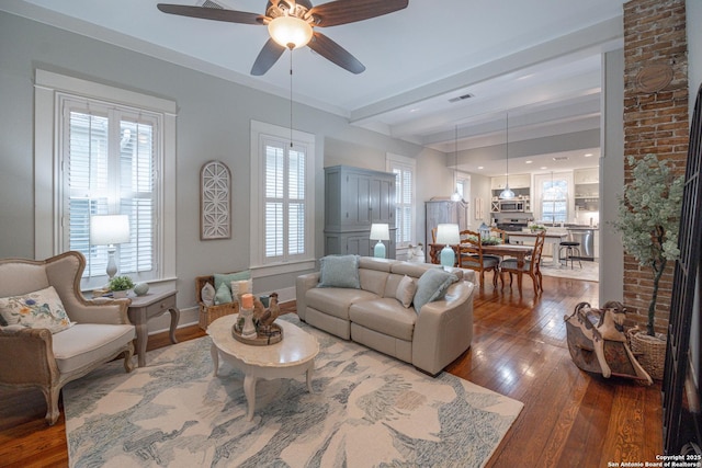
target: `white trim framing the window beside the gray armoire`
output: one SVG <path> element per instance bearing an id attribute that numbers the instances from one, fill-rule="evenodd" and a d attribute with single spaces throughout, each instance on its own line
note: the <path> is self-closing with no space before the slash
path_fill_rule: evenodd
<path id="1" fill-rule="evenodd" d="M 251 159 L 251 222 L 250 226 L 250 259 L 249 269 L 253 277 L 272 276 L 286 273 L 296 273 L 312 270 L 316 266 L 315 259 L 315 135 L 305 132 L 293 130 L 293 141 L 304 145 L 306 150 L 305 161 L 305 255 L 287 262 L 265 262 L 264 232 L 264 186 L 262 137 L 271 136 L 290 140 L 291 129 L 264 122 L 251 121 L 250 159 Z"/>

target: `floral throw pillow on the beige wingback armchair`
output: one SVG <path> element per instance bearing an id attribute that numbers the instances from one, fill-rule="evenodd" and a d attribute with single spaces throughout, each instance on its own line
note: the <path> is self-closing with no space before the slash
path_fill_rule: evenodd
<path id="1" fill-rule="evenodd" d="M 23 296 L 0 297 L 0 316 L 10 327 L 45 328 L 52 333 L 73 324 L 54 286 Z"/>

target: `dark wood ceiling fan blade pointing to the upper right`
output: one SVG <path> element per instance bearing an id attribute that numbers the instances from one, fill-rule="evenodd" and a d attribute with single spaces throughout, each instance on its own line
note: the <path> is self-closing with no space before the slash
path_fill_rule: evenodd
<path id="1" fill-rule="evenodd" d="M 409 0 L 337 0 L 309 10 L 317 26 L 328 27 L 354 23 L 407 8 Z"/>

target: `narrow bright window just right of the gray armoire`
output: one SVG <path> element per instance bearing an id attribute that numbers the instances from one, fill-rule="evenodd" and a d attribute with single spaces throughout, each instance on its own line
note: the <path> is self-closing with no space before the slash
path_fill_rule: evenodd
<path id="1" fill-rule="evenodd" d="M 387 171 L 395 174 L 395 242 L 407 248 L 415 238 L 415 160 L 387 155 Z"/>

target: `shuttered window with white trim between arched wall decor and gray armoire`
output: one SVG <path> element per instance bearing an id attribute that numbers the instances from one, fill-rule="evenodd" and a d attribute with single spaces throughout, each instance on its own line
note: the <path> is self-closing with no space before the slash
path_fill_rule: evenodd
<path id="1" fill-rule="evenodd" d="M 314 259 L 314 136 L 252 122 L 251 266 Z M 305 265 L 304 267 L 308 267 Z M 301 266 L 302 269 L 303 266 Z"/>

